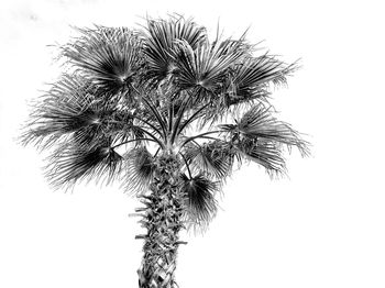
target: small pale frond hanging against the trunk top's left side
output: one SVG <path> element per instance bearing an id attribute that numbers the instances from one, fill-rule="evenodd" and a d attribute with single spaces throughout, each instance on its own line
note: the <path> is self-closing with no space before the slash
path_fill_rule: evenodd
<path id="1" fill-rule="evenodd" d="M 128 152 L 124 157 L 122 182 L 130 193 L 145 192 L 150 187 L 155 168 L 154 157 L 145 146 Z"/>

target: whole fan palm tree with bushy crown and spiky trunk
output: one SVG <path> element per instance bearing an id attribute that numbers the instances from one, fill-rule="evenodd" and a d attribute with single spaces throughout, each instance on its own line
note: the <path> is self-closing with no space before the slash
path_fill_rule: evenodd
<path id="1" fill-rule="evenodd" d="M 180 15 L 78 32 L 59 46 L 65 73 L 33 106 L 22 143 L 50 152 L 55 188 L 119 180 L 136 195 L 139 287 L 177 287 L 178 233 L 207 228 L 233 168 L 255 162 L 274 177 L 286 173 L 286 148 L 308 155 L 268 103 L 297 65 L 256 55 L 245 35 L 210 41 Z"/>

